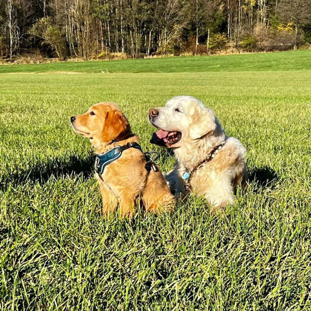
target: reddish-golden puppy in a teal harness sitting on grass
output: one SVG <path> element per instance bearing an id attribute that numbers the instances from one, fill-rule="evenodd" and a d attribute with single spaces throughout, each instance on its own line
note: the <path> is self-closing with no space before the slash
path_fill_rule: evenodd
<path id="1" fill-rule="evenodd" d="M 146 211 L 170 210 L 174 196 L 159 169 L 137 144 L 139 137 L 113 103 L 99 103 L 72 116 L 75 132 L 90 139 L 96 154 L 95 176 L 100 184 L 103 215 L 114 212 L 132 219 L 142 202 Z"/>

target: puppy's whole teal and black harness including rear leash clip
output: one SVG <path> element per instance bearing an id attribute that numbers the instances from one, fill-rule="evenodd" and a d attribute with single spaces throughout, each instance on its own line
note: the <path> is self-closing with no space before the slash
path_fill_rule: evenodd
<path id="1" fill-rule="evenodd" d="M 136 148 L 142 151 L 142 147 L 136 142 L 134 142 L 134 143 L 128 143 L 125 146 L 116 146 L 113 149 L 105 153 L 96 155 L 95 172 L 99 175 L 102 181 L 104 181 L 102 174 L 104 173 L 105 167 L 109 165 L 110 163 L 114 162 L 115 160 L 117 160 L 122 155 L 122 152 L 129 148 Z M 156 151 L 147 151 L 147 152 L 142 151 L 142 153 L 146 156 L 146 161 L 147 161 L 146 169 L 148 170 L 148 172 L 151 171 L 151 168 L 156 172 L 158 169 L 156 165 L 154 164 L 154 161 L 159 158 L 160 156 L 159 153 Z M 156 154 L 156 157 L 154 159 L 151 159 L 150 157 L 152 154 Z"/>

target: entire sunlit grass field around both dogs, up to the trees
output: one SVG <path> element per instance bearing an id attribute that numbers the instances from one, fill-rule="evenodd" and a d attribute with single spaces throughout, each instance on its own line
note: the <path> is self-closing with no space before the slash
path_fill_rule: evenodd
<path id="1" fill-rule="evenodd" d="M 0 310 L 310 310 L 310 59 L 0 66 Z M 84 73 L 31 73 L 45 71 Z M 171 215 L 104 220 L 89 142 L 69 117 L 118 103 L 167 171 L 147 111 L 182 94 L 246 146 L 249 187 L 223 215 L 192 197 Z"/>

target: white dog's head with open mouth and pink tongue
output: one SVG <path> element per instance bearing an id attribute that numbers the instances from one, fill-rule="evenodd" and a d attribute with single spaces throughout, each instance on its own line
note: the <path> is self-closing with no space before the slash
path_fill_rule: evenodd
<path id="1" fill-rule="evenodd" d="M 165 107 L 150 109 L 149 121 L 159 129 L 151 143 L 169 148 L 207 136 L 220 126 L 214 112 L 192 96 L 176 96 Z"/>

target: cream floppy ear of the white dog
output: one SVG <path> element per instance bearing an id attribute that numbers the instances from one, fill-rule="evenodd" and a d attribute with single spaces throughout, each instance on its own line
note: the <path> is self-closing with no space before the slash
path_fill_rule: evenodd
<path id="1" fill-rule="evenodd" d="M 211 109 L 197 107 L 193 112 L 192 118 L 189 130 L 191 139 L 199 139 L 216 128 L 215 115 Z"/>

